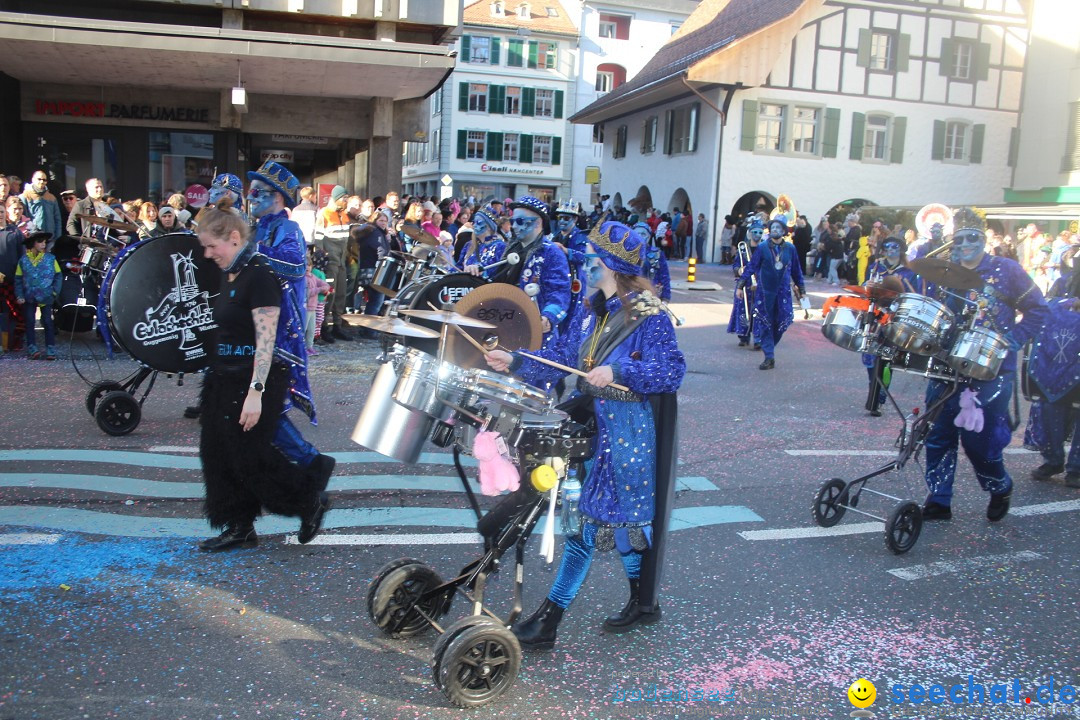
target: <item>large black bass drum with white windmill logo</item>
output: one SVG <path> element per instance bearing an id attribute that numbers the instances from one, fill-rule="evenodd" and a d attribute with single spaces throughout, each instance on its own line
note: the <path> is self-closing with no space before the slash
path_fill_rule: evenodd
<path id="1" fill-rule="evenodd" d="M 161 235 L 126 248 L 106 281 L 112 339 L 161 372 L 198 372 L 213 352 L 213 298 L 221 270 L 203 258 L 191 233 Z"/>

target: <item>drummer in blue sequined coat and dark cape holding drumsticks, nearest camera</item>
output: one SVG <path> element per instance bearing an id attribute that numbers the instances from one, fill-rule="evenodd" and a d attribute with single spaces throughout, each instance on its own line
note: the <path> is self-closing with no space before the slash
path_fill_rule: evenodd
<path id="1" fill-rule="evenodd" d="M 585 372 L 575 395 L 596 421 L 596 452 L 581 489 L 581 531 L 567 538 L 558 575 L 540 608 L 514 626 L 529 649 L 549 649 L 564 611 L 585 580 L 594 551 L 618 549 L 630 600 L 604 623 L 619 633 L 661 617 L 659 587 L 674 498 L 677 407 L 686 373 L 675 329 L 642 276 L 646 243 L 620 222 L 589 235 L 586 266 L 593 294 L 567 332 L 539 355 Z M 550 384 L 558 369 L 495 351 L 496 370 Z M 625 385 L 627 391 L 610 384 Z M 572 400 L 571 400 L 572 403 Z"/>

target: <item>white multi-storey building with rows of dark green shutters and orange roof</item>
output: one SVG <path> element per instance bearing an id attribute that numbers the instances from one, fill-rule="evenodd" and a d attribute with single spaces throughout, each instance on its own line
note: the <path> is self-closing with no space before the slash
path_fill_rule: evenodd
<path id="1" fill-rule="evenodd" d="M 462 23 L 458 65 L 431 98 L 429 137 L 405 144 L 405 191 L 477 201 L 568 195 L 573 19 L 558 0 L 478 0 Z"/>

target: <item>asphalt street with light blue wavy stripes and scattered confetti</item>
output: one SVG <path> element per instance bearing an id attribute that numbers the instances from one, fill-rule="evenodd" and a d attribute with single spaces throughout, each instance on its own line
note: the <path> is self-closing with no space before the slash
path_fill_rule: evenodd
<path id="1" fill-rule="evenodd" d="M 103 359 L 92 336 L 65 339 L 60 362 L 2 358 L 0 718 L 843 718 L 860 678 L 876 687 L 878 718 L 1080 718 L 1080 491 L 1029 479 L 1042 461 L 1022 448 L 1023 422 L 1000 522 L 961 453 L 954 519 L 927 522 L 906 554 L 856 513 L 821 528 L 819 488 L 894 457 L 901 419 L 867 413 L 859 355 L 822 337 L 819 309 L 836 288 L 808 283 L 814 310 L 796 310 L 762 371 L 760 352 L 726 332 L 730 269 L 698 277 L 721 289 L 676 289 L 672 302 L 688 372 L 662 622 L 600 631 L 626 588 L 615 554 L 599 554 L 554 651 L 525 653 L 510 692 L 469 711 L 432 682 L 434 630 L 395 640 L 368 615 L 386 562 L 413 557 L 448 578 L 482 552 L 446 450 L 429 444 L 405 465 L 350 440 L 377 342 L 311 361 L 320 424 L 301 430 L 338 463 L 323 534 L 299 545 L 296 519 L 267 516 L 256 548 L 221 554 L 195 547 L 215 534 L 201 515 L 199 424 L 183 418 L 198 378 L 159 378 L 138 427 L 110 437 L 69 356 L 90 381 L 120 380 L 133 361 Z M 926 380 L 893 378 L 904 411 L 921 408 Z M 1026 421 L 1023 399 L 1021 411 Z M 926 497 L 914 461 L 867 487 Z M 888 517 L 896 504 L 864 494 L 859 508 Z M 562 549 L 559 538 L 544 565 L 539 534 L 526 612 Z M 487 594 L 500 614 L 513 555 L 503 562 Z M 446 622 L 468 604 L 457 598 Z"/>

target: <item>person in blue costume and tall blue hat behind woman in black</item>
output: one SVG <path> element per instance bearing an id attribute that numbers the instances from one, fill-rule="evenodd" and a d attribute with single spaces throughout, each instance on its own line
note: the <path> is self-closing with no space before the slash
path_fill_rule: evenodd
<path id="1" fill-rule="evenodd" d="M 285 208 L 296 206 L 299 180 L 285 167 L 268 160 L 257 171 L 249 172 L 247 202 L 256 219 L 255 242 L 258 252 L 270 260 L 270 268 L 281 283 L 281 317 L 274 355 L 289 366 L 289 388 L 285 406 L 274 435 L 274 445 L 285 457 L 315 477 L 325 481 L 334 472 L 335 461 L 319 452 L 288 418 L 293 406 L 316 424 L 315 403 L 308 382 L 308 350 L 305 345 L 303 323 L 307 297 L 307 246 L 300 226 L 288 219 Z"/>

